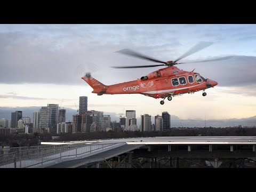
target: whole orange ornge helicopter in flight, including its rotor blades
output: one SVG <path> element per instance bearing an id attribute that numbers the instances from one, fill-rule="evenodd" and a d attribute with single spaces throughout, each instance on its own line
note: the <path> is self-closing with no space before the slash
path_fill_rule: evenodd
<path id="1" fill-rule="evenodd" d="M 142 67 L 157 67 L 157 66 L 166 66 L 165 68 L 158 69 L 146 76 L 141 78 L 124 83 L 118 83 L 113 85 L 105 85 L 96 79 L 94 79 L 90 73 L 86 73 L 85 76 L 81 77 L 84 81 L 89 84 L 93 91 L 92 93 L 97 93 L 97 95 L 102 94 L 143 94 L 148 97 L 153 97 L 155 99 L 162 98 L 160 101 L 161 105 L 164 105 L 164 100 L 171 101 L 172 97 L 182 95 L 185 93 L 193 94 L 197 91 L 203 90 L 203 96 L 206 95 L 205 90 L 211 87 L 218 85 L 218 82 L 213 81 L 209 78 L 205 78 L 199 73 L 193 71 L 184 71 L 175 67 L 174 65 L 182 64 L 177 63 L 180 59 L 187 57 L 190 54 L 193 54 L 199 50 L 204 49 L 205 47 L 211 45 L 211 42 L 200 42 L 189 51 L 183 54 L 181 57 L 175 61 L 160 61 L 146 55 L 134 52 L 129 49 L 123 49 L 117 51 L 118 53 L 130 55 L 132 57 L 137 57 L 140 59 L 146 59 L 153 62 L 163 63 L 161 65 L 146 65 L 146 66 L 122 66 L 122 67 L 113 67 L 113 68 L 142 68 Z M 218 59 L 209 59 L 195 62 L 210 62 L 210 61 L 219 61 L 229 59 L 233 56 L 222 57 Z M 186 62 L 186 63 L 195 63 L 195 62 Z M 183 62 L 185 63 L 185 62 Z"/>

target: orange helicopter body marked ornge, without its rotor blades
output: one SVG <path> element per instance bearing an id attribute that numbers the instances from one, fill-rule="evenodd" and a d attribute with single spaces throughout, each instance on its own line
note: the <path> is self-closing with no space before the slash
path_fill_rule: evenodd
<path id="1" fill-rule="evenodd" d="M 92 93 L 98 95 L 143 94 L 155 99 L 194 93 L 218 84 L 198 73 L 194 73 L 194 70 L 184 71 L 175 66 L 156 70 L 134 81 L 113 85 L 104 85 L 91 76 L 85 75 L 82 78 L 93 88 Z"/>

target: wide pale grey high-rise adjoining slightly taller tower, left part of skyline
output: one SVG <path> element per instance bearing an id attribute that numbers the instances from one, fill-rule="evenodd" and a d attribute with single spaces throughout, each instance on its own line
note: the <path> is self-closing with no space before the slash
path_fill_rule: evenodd
<path id="1" fill-rule="evenodd" d="M 52 109 L 49 107 L 42 107 L 39 109 L 39 128 L 50 129 L 52 127 Z"/>

